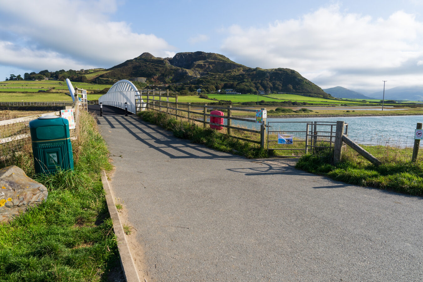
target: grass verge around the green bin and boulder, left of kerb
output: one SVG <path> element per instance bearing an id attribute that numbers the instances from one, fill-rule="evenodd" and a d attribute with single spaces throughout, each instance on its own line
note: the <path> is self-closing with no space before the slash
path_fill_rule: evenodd
<path id="1" fill-rule="evenodd" d="M 108 151 L 87 112 L 81 112 L 79 128 L 73 171 L 35 175 L 33 166 L 23 168 L 49 195 L 0 225 L 1 281 L 107 281 L 120 269 L 100 175 L 111 169 Z"/>

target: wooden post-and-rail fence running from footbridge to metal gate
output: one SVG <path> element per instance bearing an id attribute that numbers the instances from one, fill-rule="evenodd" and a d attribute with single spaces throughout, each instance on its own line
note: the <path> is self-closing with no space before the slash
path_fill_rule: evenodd
<path id="1" fill-rule="evenodd" d="M 197 105 L 182 103 L 178 101 L 178 96 L 164 96 L 147 93 L 143 94 L 143 97 L 146 98 L 146 108 L 148 110 L 166 112 L 169 115 L 175 116 L 176 119 L 194 122 L 199 126 L 203 126 L 203 128 L 219 126 L 221 128 L 219 132 L 222 134 L 228 134 L 239 140 L 259 144 L 261 148 L 264 148 L 264 125 L 266 124 L 266 119 L 264 118 L 263 122 L 258 123 L 255 118 L 257 110 L 233 108 L 232 106 L 208 106 L 207 104 Z M 143 107 L 141 110 L 143 110 Z M 223 112 L 224 115 L 212 115 L 210 112 L 213 110 L 219 110 Z M 261 110 L 266 109 L 263 108 Z M 223 124 L 211 122 L 211 117 L 223 118 Z"/>

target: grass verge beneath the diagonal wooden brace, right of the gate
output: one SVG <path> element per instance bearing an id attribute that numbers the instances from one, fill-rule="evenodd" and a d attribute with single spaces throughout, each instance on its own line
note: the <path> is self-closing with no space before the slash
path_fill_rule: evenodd
<path id="1" fill-rule="evenodd" d="M 329 152 L 322 152 L 320 155 L 308 154 L 298 160 L 296 168 L 350 184 L 423 196 L 421 161 L 415 163 L 386 161 L 375 166 L 368 162 L 357 162 L 344 155 L 343 160 L 336 165 L 330 164 L 330 160 Z"/>

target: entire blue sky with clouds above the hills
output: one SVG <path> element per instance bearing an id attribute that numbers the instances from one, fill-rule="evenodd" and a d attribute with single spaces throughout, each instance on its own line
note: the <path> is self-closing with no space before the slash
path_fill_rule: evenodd
<path id="1" fill-rule="evenodd" d="M 0 80 L 195 51 L 323 89 L 423 86 L 423 0 L 0 0 Z"/>

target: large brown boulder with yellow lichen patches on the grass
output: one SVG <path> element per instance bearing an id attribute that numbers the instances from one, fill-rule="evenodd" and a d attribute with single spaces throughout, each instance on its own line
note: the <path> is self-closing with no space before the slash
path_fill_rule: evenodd
<path id="1" fill-rule="evenodd" d="M 0 223 L 47 199 L 47 188 L 12 165 L 0 170 Z"/>

